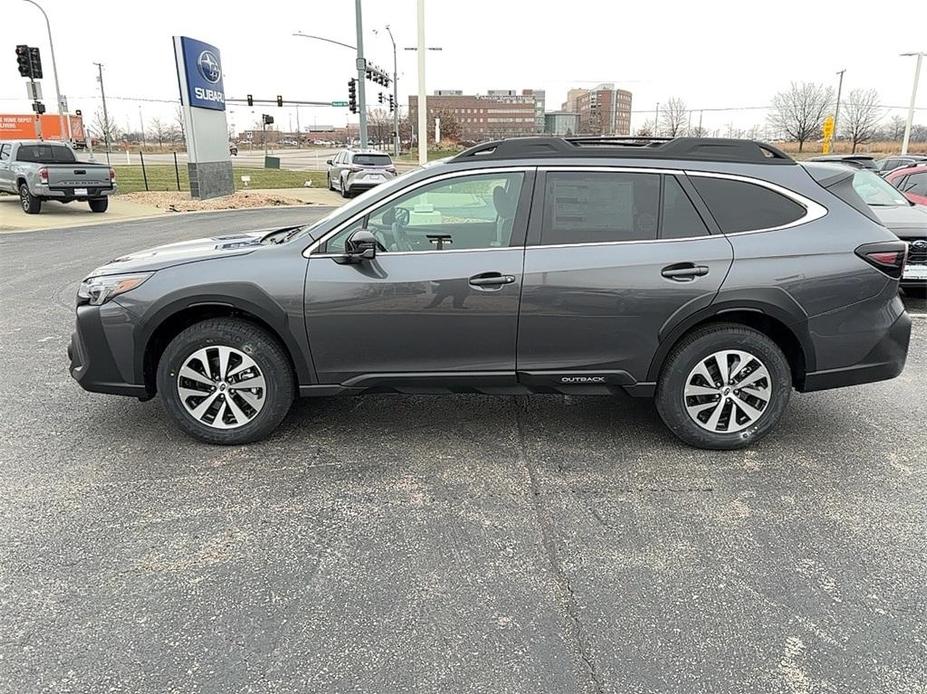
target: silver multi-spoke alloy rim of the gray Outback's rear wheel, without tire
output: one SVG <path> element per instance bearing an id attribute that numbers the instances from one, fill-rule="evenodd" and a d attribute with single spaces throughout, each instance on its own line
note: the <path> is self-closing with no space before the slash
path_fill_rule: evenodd
<path id="1" fill-rule="evenodd" d="M 712 433 L 729 434 L 756 423 L 772 398 L 769 370 L 756 356 L 723 350 L 701 359 L 686 378 L 683 395 L 692 420 Z"/>

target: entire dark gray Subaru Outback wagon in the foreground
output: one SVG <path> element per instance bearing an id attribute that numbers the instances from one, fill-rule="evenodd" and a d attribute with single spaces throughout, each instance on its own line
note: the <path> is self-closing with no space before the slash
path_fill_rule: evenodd
<path id="1" fill-rule="evenodd" d="M 688 444 L 745 446 L 793 388 L 904 367 L 906 245 L 840 181 L 747 140 L 477 145 L 310 226 L 98 268 L 71 374 L 219 444 L 297 395 L 623 390 Z"/>

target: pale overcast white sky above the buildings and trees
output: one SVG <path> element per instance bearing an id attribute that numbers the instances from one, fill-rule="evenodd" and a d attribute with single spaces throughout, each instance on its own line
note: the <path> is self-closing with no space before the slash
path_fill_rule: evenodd
<path id="1" fill-rule="evenodd" d="M 318 101 L 347 98 L 354 55 L 345 48 L 291 36 L 303 31 L 355 42 L 353 0 L 38 0 L 51 22 L 62 91 L 70 108 L 87 115 L 98 108 L 94 62 L 105 65 L 108 106 L 121 127 L 136 128 L 139 105 L 149 120 L 167 117 L 169 104 L 123 98 L 176 99 L 171 36 L 182 34 L 218 46 L 226 97 Z M 633 92 L 633 127 L 658 101 L 679 96 L 692 109 L 768 104 L 792 80 L 836 88 L 846 68 L 844 94 L 875 88 L 880 101 L 906 107 L 914 59 L 901 52 L 927 51 L 924 0 L 865 4 L 775 2 L 618 2 L 608 0 L 427 0 L 427 87 L 485 93 L 488 89 L 547 90 L 547 109 L 559 109 L 570 87 L 614 82 Z M 365 0 L 364 46 L 368 60 L 392 71 L 390 24 L 399 44 L 399 98 L 417 89 L 415 0 Z M 45 100 L 52 110 L 51 56 L 41 14 L 23 0 L 0 0 L 6 67 L 0 69 L 0 112 L 28 112 L 24 80 L 15 66 L 18 43 L 42 49 Z M 884 8 L 884 10 L 883 10 Z M 379 33 L 374 33 L 374 30 Z M 922 71 L 927 73 L 927 67 Z M 356 73 L 355 73 L 356 74 Z M 376 88 L 376 89 L 375 89 Z M 368 83 L 368 94 L 382 89 Z M 370 102 L 368 98 L 368 102 Z M 927 121 L 927 77 L 922 74 L 916 122 Z M 263 109 L 288 127 L 289 109 Z M 234 107 L 229 120 L 247 127 L 261 109 Z M 899 112 L 899 111 L 896 111 Z M 343 125 L 347 109 L 300 109 L 301 124 Z M 706 112 L 707 127 L 733 122 L 750 127 L 762 111 Z"/>

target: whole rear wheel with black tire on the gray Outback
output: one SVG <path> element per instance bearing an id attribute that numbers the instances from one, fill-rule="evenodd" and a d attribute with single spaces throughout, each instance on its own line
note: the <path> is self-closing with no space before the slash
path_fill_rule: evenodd
<path id="1" fill-rule="evenodd" d="M 719 363 L 715 355 L 727 351 L 731 354 Z M 733 385 L 719 389 L 725 363 Z M 705 376 L 714 383 L 706 383 Z M 669 430 L 690 446 L 731 450 L 766 436 L 791 393 L 789 362 L 775 342 L 743 325 L 716 323 L 686 335 L 670 352 L 657 383 L 656 406 Z M 713 407 L 714 402 L 720 405 Z"/>

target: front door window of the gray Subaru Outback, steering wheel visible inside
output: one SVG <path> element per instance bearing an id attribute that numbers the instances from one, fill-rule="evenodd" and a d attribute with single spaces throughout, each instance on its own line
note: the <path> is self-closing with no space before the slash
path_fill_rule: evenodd
<path id="1" fill-rule="evenodd" d="M 327 253 L 344 252 L 344 242 L 366 228 L 387 252 L 505 248 L 512 240 L 524 173 L 460 176 L 403 195 L 342 229 L 326 243 Z"/>

